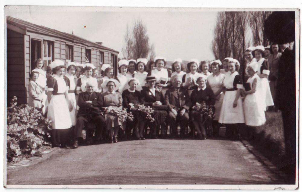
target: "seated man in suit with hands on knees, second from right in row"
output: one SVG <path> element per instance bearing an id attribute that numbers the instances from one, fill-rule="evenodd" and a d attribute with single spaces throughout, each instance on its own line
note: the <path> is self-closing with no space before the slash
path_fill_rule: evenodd
<path id="1" fill-rule="evenodd" d="M 180 122 L 180 136 L 184 138 L 185 127 L 189 120 L 188 109 L 185 108 L 185 101 L 188 95 L 185 89 L 181 88 L 181 84 L 182 79 L 180 77 L 173 78 L 173 86 L 165 94 L 165 105 L 168 105 L 169 109 L 168 122 L 172 128 L 171 138 L 178 136 L 177 122 Z"/>

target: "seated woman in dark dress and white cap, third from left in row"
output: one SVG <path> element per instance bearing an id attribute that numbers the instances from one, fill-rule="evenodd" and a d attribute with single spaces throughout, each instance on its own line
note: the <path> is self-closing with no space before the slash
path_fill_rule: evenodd
<path id="1" fill-rule="evenodd" d="M 138 80 L 135 78 L 129 79 L 127 82 L 129 88 L 123 91 L 123 107 L 127 108 L 134 116 L 133 121 L 127 122 L 126 135 L 127 138 L 130 138 L 131 130 L 135 129 L 135 135 L 137 140 L 145 139 L 143 135 L 144 127 L 140 126 L 141 121 L 138 119 L 139 115 L 135 110 L 135 106 L 140 104 L 140 91 L 137 91 Z"/>

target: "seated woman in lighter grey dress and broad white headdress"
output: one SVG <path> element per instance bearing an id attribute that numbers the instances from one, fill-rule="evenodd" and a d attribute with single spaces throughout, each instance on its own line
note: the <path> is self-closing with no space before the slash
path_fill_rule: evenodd
<path id="1" fill-rule="evenodd" d="M 102 83 L 103 93 L 102 100 L 103 100 L 103 107 L 102 109 L 105 110 L 105 119 L 106 119 L 106 126 L 109 130 L 109 143 L 117 143 L 117 134 L 119 127 L 125 130 L 125 123 L 121 123 L 118 119 L 118 116 L 110 113 L 111 110 L 120 110 L 123 108 L 122 106 L 122 95 L 119 92 L 116 92 L 120 87 L 120 83 L 115 79 L 107 79 L 105 82 Z"/>

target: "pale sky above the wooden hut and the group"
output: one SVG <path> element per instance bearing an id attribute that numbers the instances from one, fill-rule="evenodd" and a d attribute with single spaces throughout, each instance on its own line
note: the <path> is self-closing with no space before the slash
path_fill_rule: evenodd
<path id="1" fill-rule="evenodd" d="M 141 19 L 156 56 L 214 60 L 211 43 L 217 12 L 198 8 L 102 8 L 6 6 L 8 16 L 66 33 L 73 33 L 121 52 L 127 24 Z M 86 26 L 86 27 L 84 27 Z"/>

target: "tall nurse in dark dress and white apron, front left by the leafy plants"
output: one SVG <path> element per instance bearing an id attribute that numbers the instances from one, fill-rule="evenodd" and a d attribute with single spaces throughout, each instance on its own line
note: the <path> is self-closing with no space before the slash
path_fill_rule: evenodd
<path id="1" fill-rule="evenodd" d="M 52 128 L 52 147 L 66 147 L 72 126 L 69 111 L 72 104 L 68 98 L 69 87 L 66 85 L 63 74 L 65 65 L 61 60 L 51 63 L 53 78 L 48 83 L 47 99 L 49 102 L 47 119 L 50 119 Z"/>

